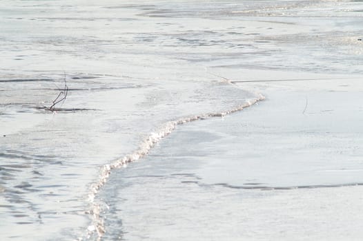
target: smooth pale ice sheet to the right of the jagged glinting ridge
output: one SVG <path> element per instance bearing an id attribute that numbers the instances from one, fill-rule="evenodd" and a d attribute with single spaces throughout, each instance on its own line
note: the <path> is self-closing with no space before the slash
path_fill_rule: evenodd
<path id="1" fill-rule="evenodd" d="M 105 238 L 359 240 L 362 84 L 285 82 L 260 83 L 266 101 L 242 112 L 179 126 L 112 174 Z"/>

